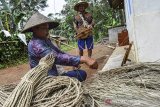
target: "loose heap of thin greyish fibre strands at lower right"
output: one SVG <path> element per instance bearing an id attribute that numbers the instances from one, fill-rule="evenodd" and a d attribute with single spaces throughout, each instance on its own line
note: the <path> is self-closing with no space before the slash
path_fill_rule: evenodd
<path id="1" fill-rule="evenodd" d="M 143 63 L 95 75 L 83 85 L 101 106 L 159 107 L 160 63 Z"/>

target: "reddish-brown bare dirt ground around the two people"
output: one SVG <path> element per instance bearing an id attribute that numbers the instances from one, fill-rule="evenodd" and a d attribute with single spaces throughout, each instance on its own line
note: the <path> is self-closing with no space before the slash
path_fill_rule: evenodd
<path id="1" fill-rule="evenodd" d="M 93 57 L 98 61 L 99 68 L 97 70 L 89 69 L 85 64 L 81 65 L 81 69 L 87 71 L 88 77 L 96 73 L 103 68 L 111 55 L 113 49 L 108 48 L 106 45 L 96 45 L 93 50 Z M 74 49 L 68 52 L 70 54 L 78 54 L 78 50 Z M 84 51 L 84 55 L 87 55 L 87 51 Z M 29 64 L 22 64 L 15 67 L 5 68 L 0 70 L 0 85 L 7 85 L 12 83 L 18 83 L 21 78 L 29 71 Z M 64 67 L 66 71 L 72 70 L 72 67 Z"/>

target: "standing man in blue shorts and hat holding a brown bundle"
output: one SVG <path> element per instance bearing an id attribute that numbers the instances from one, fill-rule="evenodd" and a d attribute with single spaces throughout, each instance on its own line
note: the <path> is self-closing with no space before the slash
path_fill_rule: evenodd
<path id="1" fill-rule="evenodd" d="M 93 36 L 92 30 L 94 27 L 94 22 L 92 15 L 85 11 L 89 4 L 85 1 L 79 1 L 74 6 L 74 10 L 77 11 L 77 15 L 74 18 L 74 28 L 78 39 L 79 55 L 83 56 L 83 50 L 85 49 L 85 44 L 88 49 L 88 57 L 92 56 L 93 49 Z"/>

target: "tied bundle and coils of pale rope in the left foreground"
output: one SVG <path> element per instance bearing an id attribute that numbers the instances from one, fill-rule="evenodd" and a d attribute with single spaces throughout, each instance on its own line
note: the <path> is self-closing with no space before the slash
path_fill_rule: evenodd
<path id="1" fill-rule="evenodd" d="M 77 79 L 66 76 L 48 77 L 47 72 L 53 63 L 54 55 L 48 55 L 22 78 L 14 90 L 7 91 L 7 87 L 5 89 L 1 87 L 0 106 L 98 107 L 94 98 L 83 92 L 81 82 Z"/>

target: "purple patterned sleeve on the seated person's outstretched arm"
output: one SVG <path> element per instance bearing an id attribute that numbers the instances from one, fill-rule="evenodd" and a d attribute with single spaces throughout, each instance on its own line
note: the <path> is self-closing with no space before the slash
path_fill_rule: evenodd
<path id="1" fill-rule="evenodd" d="M 67 53 L 62 52 L 55 46 L 49 47 L 46 44 L 39 42 L 33 46 L 33 50 L 35 51 L 37 57 L 44 57 L 49 53 L 53 53 L 56 57 L 55 64 L 58 65 L 66 65 L 66 66 L 78 66 L 80 63 L 80 56 L 69 55 Z"/>

